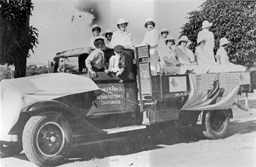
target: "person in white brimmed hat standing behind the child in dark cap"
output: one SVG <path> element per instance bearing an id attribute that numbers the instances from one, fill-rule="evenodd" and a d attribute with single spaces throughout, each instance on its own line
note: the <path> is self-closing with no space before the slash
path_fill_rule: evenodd
<path id="1" fill-rule="evenodd" d="M 120 18 L 116 25 L 119 30 L 113 33 L 110 45 L 112 47 L 115 45 L 123 45 L 125 48 L 132 48 L 132 35 L 126 31 L 129 21 Z"/>

